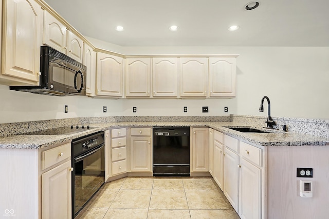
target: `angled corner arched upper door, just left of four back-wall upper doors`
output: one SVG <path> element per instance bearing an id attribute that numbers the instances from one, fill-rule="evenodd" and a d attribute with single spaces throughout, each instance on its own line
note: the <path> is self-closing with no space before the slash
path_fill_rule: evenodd
<path id="1" fill-rule="evenodd" d="M 96 94 L 123 96 L 123 58 L 97 52 Z"/>

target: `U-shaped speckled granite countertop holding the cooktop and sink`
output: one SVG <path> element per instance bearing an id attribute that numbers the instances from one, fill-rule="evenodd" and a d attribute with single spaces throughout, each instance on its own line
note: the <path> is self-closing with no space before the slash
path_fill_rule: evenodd
<path id="1" fill-rule="evenodd" d="M 309 134 L 283 132 L 279 130 L 266 130 L 269 133 L 242 133 L 235 131 L 225 126 L 237 127 L 243 126 L 233 122 L 124 122 L 124 123 L 101 123 L 88 124 L 97 128 L 86 130 L 70 135 L 10 135 L 0 137 L 0 148 L 22 148 L 22 149 L 39 149 L 52 145 L 68 142 L 74 138 L 78 138 L 87 134 L 104 131 L 114 127 L 138 127 L 138 126 L 193 126 L 193 127 L 210 127 L 214 130 L 223 132 L 236 138 L 240 138 L 246 142 L 262 145 L 262 146 L 302 146 L 314 145 L 324 146 L 329 145 L 329 139 L 321 136 Z M 262 129 L 262 128 L 258 128 Z M 262 129 L 265 130 L 265 129 Z"/>

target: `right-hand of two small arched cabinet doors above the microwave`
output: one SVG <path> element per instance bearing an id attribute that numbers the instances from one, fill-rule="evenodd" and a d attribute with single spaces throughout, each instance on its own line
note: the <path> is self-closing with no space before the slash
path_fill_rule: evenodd
<path id="1" fill-rule="evenodd" d="M 83 41 L 77 35 L 68 31 L 67 36 L 67 51 L 66 54 L 74 58 L 79 63 L 82 63 L 83 59 Z"/>

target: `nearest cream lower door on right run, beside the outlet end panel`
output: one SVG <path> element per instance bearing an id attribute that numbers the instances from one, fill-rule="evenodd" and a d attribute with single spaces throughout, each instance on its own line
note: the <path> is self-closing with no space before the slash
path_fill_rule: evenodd
<path id="1" fill-rule="evenodd" d="M 239 215 L 244 219 L 262 217 L 262 170 L 240 160 Z"/>

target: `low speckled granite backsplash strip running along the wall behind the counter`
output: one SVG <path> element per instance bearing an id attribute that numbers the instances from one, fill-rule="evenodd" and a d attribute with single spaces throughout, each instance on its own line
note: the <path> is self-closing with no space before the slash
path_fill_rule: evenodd
<path id="1" fill-rule="evenodd" d="M 0 136 L 22 134 L 31 131 L 57 128 L 71 125 L 120 123 L 120 122 L 236 122 L 242 126 L 264 127 L 266 116 L 230 115 L 230 116 L 109 116 L 109 117 L 80 117 L 59 120 L 43 120 L 34 122 L 0 124 Z M 272 117 L 277 123 L 275 128 L 282 130 L 287 126 L 288 132 L 312 134 L 329 137 L 329 120 L 315 120 L 305 118 Z"/>

